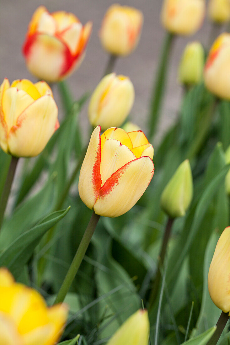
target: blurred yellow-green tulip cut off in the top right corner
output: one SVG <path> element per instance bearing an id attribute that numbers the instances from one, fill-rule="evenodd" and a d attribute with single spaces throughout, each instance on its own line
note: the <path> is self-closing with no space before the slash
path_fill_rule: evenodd
<path id="1" fill-rule="evenodd" d="M 230 0 L 209 0 L 209 18 L 219 24 L 230 20 Z"/>

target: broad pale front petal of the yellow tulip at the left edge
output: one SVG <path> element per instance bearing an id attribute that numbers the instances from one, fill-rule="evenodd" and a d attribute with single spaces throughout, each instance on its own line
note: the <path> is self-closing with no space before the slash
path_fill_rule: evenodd
<path id="1" fill-rule="evenodd" d="M 11 154 L 18 157 L 37 156 L 54 133 L 57 115 L 58 109 L 51 96 L 33 101 L 9 132 L 8 148 Z"/>

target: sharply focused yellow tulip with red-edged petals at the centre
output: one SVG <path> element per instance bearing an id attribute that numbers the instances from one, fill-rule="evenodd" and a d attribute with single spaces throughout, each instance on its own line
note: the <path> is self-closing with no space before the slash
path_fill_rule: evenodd
<path id="1" fill-rule="evenodd" d="M 140 199 L 154 174 L 153 147 L 142 131 L 109 128 L 90 138 L 80 170 L 78 190 L 95 213 L 118 217 Z"/>

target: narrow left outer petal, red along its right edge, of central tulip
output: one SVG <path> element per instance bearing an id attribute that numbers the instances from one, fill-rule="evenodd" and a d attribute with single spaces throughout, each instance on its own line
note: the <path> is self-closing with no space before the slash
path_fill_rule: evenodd
<path id="1" fill-rule="evenodd" d="M 100 157 L 100 126 L 97 126 L 90 138 L 78 182 L 79 196 L 83 203 L 90 209 L 93 208 L 99 194 L 99 188 L 102 185 L 100 178 Z"/>

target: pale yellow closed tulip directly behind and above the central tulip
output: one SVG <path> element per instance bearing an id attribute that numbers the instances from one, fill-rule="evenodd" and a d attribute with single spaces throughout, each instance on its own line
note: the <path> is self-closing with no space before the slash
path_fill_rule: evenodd
<path id="1" fill-rule="evenodd" d="M 89 102 L 89 122 L 103 130 L 119 127 L 128 116 L 134 102 L 134 87 L 125 76 L 108 74 L 98 84 Z"/>

